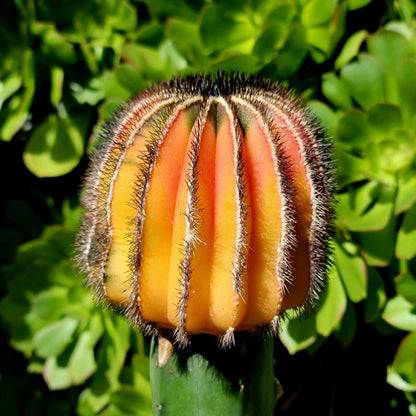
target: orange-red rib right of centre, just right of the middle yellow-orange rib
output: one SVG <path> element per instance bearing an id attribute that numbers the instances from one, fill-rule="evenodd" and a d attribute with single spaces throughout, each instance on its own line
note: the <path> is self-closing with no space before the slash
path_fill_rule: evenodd
<path id="1" fill-rule="evenodd" d="M 279 161 L 276 144 L 259 111 L 244 99 L 235 98 L 238 116 L 245 124 L 252 234 L 248 265 L 248 310 L 242 327 L 270 322 L 280 311 L 282 288 L 276 273 L 282 227 Z M 264 119 L 264 118 L 263 118 Z M 280 213 L 280 215 L 279 215 Z"/>

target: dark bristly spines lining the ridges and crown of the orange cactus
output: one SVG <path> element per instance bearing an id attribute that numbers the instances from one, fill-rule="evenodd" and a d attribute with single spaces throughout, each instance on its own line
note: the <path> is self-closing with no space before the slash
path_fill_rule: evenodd
<path id="1" fill-rule="evenodd" d="M 152 174 L 162 145 L 182 110 L 198 105 L 199 115 L 195 118 L 191 133 L 191 150 L 186 155 L 188 192 L 186 212 L 186 234 L 183 238 L 181 260 L 178 263 L 180 282 L 178 282 L 176 324 L 156 322 L 145 319 L 141 308 L 141 265 L 143 224 L 149 212 L 146 198 L 151 187 Z M 328 267 L 330 267 L 330 236 L 334 232 L 334 191 L 335 165 L 332 157 L 332 144 L 320 126 L 316 116 L 292 92 L 281 85 L 254 75 L 238 72 L 211 75 L 189 75 L 184 78 L 161 82 L 133 98 L 122 106 L 104 125 L 91 157 L 84 180 L 81 203 L 86 209 L 76 239 L 76 260 L 79 269 L 86 275 L 86 284 L 92 287 L 96 298 L 108 306 L 122 310 L 133 325 L 145 333 L 157 333 L 159 328 L 170 331 L 174 341 L 181 347 L 190 343 L 188 331 L 188 305 L 192 296 L 193 259 L 198 246 L 205 244 L 200 240 L 203 227 L 203 212 L 198 197 L 199 190 L 199 152 L 202 132 L 205 128 L 211 106 L 222 106 L 232 128 L 230 137 L 234 141 L 234 175 L 236 218 L 236 241 L 234 260 L 230 262 L 235 291 L 235 316 L 228 329 L 217 328 L 215 333 L 221 347 L 234 345 L 234 334 L 245 330 L 243 318 L 237 317 L 238 304 L 250 302 L 247 293 L 247 276 L 250 267 L 250 238 L 248 226 L 251 212 L 250 179 L 247 177 L 244 157 L 245 133 L 249 126 L 241 115 L 250 114 L 258 120 L 267 141 L 273 161 L 275 188 L 281 199 L 280 212 L 276 221 L 281 221 L 281 237 L 278 242 L 278 255 L 275 262 L 276 280 L 280 304 L 270 322 L 260 322 L 250 331 L 276 334 L 279 321 L 285 315 L 284 299 L 290 299 L 296 285 L 294 257 L 298 248 L 297 184 L 294 178 L 293 158 L 285 147 L 287 135 L 296 143 L 305 171 L 305 181 L 310 189 L 311 222 L 308 230 L 307 253 L 309 285 L 305 288 L 303 301 L 294 307 L 299 313 L 316 307 L 320 293 L 325 289 Z M 194 110 L 192 110 L 194 111 Z M 215 116 L 217 117 L 217 116 Z M 148 128 L 148 136 L 141 132 Z M 215 125 L 217 129 L 217 125 Z M 126 242 L 129 246 L 125 259 L 128 273 L 123 287 L 126 297 L 123 301 L 111 301 L 108 293 L 107 264 L 114 241 L 114 217 L 112 201 L 116 198 L 115 184 L 126 154 L 136 140 L 144 140 L 144 150 L 136 155 L 137 173 L 131 183 L 129 207 L 134 215 L 126 225 Z M 250 202 L 248 202 L 250 201 Z M 157 230 L 155 230 L 157 232 Z M 111 276 L 110 276 L 111 278 Z M 300 295 L 299 295 L 300 296 Z M 290 304 L 290 301 L 288 301 Z M 168 327 L 168 329 L 166 329 Z M 225 326 L 227 328 L 227 326 Z"/>

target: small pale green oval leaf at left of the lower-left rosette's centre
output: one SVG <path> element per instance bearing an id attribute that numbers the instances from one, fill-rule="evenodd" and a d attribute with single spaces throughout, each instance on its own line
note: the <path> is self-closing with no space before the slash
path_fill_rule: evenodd
<path id="1" fill-rule="evenodd" d="M 35 335 L 37 354 L 42 358 L 57 357 L 72 341 L 77 326 L 76 319 L 66 317 L 39 330 Z"/>

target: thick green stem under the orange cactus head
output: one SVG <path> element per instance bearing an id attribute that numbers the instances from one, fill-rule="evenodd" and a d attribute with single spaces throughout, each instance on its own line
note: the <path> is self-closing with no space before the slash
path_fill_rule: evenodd
<path id="1" fill-rule="evenodd" d="M 214 337 L 198 335 L 192 348 L 178 350 L 154 337 L 153 415 L 271 416 L 277 395 L 273 344 L 273 338 L 241 335 L 237 347 L 220 350 Z"/>

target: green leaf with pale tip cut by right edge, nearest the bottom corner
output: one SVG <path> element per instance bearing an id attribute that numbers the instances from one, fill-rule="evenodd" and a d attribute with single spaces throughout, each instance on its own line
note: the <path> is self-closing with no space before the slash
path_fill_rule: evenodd
<path id="1" fill-rule="evenodd" d="M 403 391 L 416 391 L 416 333 L 408 334 L 400 343 L 388 368 L 387 382 Z"/>

